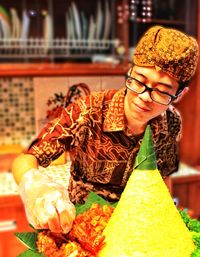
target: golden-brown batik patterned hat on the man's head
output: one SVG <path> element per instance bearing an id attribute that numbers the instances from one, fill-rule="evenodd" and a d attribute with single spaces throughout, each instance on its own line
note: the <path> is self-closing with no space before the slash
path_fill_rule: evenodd
<path id="1" fill-rule="evenodd" d="M 138 42 L 133 63 L 154 66 L 179 82 L 189 81 L 198 61 L 196 39 L 176 29 L 151 27 Z"/>

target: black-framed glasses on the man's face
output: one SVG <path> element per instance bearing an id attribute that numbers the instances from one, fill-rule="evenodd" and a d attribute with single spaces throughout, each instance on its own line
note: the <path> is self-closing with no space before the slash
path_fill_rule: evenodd
<path id="1" fill-rule="evenodd" d="M 134 93 L 143 94 L 145 91 L 150 93 L 151 99 L 162 105 L 169 105 L 172 101 L 176 100 L 181 94 L 182 89 L 178 90 L 176 95 L 171 95 L 167 92 L 160 91 L 158 88 L 148 87 L 143 82 L 134 77 L 126 75 L 126 87 Z"/>

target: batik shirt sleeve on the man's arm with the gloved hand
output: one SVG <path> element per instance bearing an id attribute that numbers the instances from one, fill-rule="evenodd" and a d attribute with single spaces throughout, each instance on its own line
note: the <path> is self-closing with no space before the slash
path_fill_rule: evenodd
<path id="1" fill-rule="evenodd" d="M 45 125 L 26 153 L 34 155 L 38 159 L 39 165 L 47 167 L 64 151 L 69 151 L 74 141 L 73 131 L 85 106 L 82 99 L 65 109 L 63 108 L 59 117 Z"/>

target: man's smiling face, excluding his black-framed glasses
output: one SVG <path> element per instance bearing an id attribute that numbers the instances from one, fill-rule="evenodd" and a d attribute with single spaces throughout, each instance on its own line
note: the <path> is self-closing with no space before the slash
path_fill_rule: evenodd
<path id="1" fill-rule="evenodd" d="M 172 79 L 167 73 L 157 71 L 153 67 L 134 66 L 129 71 L 129 76 L 146 84 L 149 88 L 157 88 L 170 95 L 175 95 L 179 87 L 178 82 Z M 148 90 L 137 94 L 127 89 L 125 115 L 128 119 L 131 118 L 146 124 L 149 120 L 167 110 L 167 108 L 168 105 L 162 105 L 153 101 Z"/>

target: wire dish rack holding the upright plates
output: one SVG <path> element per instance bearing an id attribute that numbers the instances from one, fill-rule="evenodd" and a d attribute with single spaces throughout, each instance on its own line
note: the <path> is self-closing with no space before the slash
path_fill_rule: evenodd
<path id="1" fill-rule="evenodd" d="M 114 55 L 117 40 L 43 38 L 0 39 L 0 59 L 8 58 L 85 58 Z"/>

